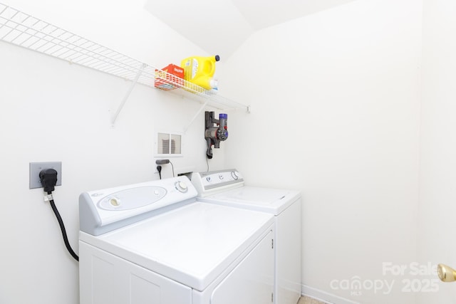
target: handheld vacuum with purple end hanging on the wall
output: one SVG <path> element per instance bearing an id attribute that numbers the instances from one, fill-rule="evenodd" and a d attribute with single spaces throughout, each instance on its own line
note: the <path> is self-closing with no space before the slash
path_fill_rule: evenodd
<path id="1" fill-rule="evenodd" d="M 227 114 L 219 114 L 219 119 L 214 118 L 214 112 L 205 112 L 204 118 L 204 139 L 207 142 L 206 156 L 212 159 L 212 145 L 220 147 L 220 142 L 228 138 Z"/>

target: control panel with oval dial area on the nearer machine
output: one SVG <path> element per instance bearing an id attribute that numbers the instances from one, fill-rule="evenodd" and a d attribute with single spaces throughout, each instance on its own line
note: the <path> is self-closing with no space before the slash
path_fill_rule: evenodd
<path id="1" fill-rule="evenodd" d="M 185 177 L 84 192 L 79 196 L 81 231 L 95 236 L 195 201 Z"/>

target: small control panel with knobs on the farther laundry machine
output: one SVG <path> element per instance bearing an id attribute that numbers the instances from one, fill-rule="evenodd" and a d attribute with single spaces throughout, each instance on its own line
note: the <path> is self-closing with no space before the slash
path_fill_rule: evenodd
<path id="1" fill-rule="evenodd" d="M 237 169 L 227 169 L 192 174 L 192 184 L 198 196 L 208 196 L 244 186 L 244 178 Z"/>

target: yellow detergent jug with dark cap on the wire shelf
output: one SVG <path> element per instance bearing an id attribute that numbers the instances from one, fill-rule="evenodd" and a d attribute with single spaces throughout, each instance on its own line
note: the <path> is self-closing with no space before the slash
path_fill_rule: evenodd
<path id="1" fill-rule="evenodd" d="M 217 80 L 213 79 L 215 63 L 220 56 L 193 56 L 181 61 L 180 66 L 184 69 L 184 79 L 195 85 L 211 90 L 217 87 Z"/>

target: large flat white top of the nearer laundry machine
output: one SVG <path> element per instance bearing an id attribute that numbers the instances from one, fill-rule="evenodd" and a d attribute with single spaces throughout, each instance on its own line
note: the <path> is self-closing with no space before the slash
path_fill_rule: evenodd
<path id="1" fill-rule="evenodd" d="M 271 214 L 196 202 L 100 236 L 81 232 L 80 240 L 204 290 L 273 223 Z"/>

